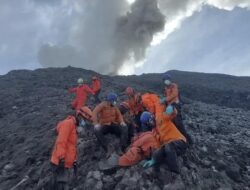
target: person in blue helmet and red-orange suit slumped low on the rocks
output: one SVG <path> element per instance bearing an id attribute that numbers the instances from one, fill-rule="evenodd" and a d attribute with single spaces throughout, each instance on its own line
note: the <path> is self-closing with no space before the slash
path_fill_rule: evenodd
<path id="1" fill-rule="evenodd" d="M 145 111 L 141 114 L 140 122 L 143 125 L 143 131 L 134 137 L 126 153 L 110 157 L 105 165 L 103 164 L 105 169 L 135 165 L 143 159 L 150 158 L 151 153 L 160 147 L 159 141 L 152 132 L 155 127 L 154 116 Z"/>

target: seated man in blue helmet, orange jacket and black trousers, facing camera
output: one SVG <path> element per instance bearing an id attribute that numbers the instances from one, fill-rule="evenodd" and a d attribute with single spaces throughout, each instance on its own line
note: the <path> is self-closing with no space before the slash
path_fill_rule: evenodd
<path id="1" fill-rule="evenodd" d="M 105 134 L 112 133 L 120 137 L 122 150 L 125 149 L 127 142 L 127 126 L 116 103 L 117 95 L 110 92 L 106 101 L 98 104 L 93 110 L 94 132 L 100 145 L 106 151 L 107 157 L 111 154 L 111 149 L 107 146 Z"/>

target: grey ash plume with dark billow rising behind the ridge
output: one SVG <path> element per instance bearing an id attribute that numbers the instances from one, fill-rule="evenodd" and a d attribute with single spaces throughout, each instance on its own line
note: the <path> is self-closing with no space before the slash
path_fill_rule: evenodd
<path id="1" fill-rule="evenodd" d="M 80 2 L 76 8 L 75 27 L 69 31 L 71 48 L 43 45 L 38 56 L 43 66 L 70 64 L 117 74 L 126 60 L 142 60 L 154 34 L 164 29 L 157 0 L 137 0 L 131 7 L 117 0 Z M 76 56 L 69 63 L 67 51 Z"/>

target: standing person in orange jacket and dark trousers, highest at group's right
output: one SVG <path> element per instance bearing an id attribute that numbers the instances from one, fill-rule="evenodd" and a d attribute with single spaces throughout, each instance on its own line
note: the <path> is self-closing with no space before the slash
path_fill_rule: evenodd
<path id="1" fill-rule="evenodd" d="M 170 75 L 167 73 L 163 74 L 163 82 L 165 85 L 164 89 L 165 97 L 161 99 L 161 103 L 166 105 L 172 105 L 177 110 L 177 115 L 175 118 L 173 118 L 173 123 L 178 128 L 178 130 L 186 137 L 188 143 L 192 145 L 193 144 L 192 137 L 190 136 L 190 134 L 187 133 L 182 121 L 181 103 L 179 99 L 178 85 L 172 82 Z"/>

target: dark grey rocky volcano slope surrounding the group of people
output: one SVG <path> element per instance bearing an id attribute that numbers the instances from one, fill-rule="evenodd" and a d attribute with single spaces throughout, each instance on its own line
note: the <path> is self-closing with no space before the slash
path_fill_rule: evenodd
<path id="1" fill-rule="evenodd" d="M 49 178 L 54 127 L 71 112 L 72 96 L 66 89 L 78 77 L 90 79 L 92 74 L 68 67 L 12 71 L 0 77 L 1 190 L 11 189 L 21 180 L 24 182 L 16 189 L 35 189 L 39 181 Z M 164 167 L 155 176 L 140 164 L 110 173 L 100 171 L 98 162 L 105 153 L 90 127 L 79 139 L 79 175 L 72 189 L 250 189 L 250 111 L 245 101 L 249 78 L 177 71 L 171 74 L 181 86 L 184 122 L 195 140 L 179 159 L 181 176 L 170 183 Z M 161 91 L 157 74 L 102 76 L 102 81 L 102 98 L 112 90 L 123 99 L 122 92 L 128 85 L 138 91 Z M 222 101 L 228 92 L 234 98 Z M 88 103 L 92 105 L 91 100 Z"/>

